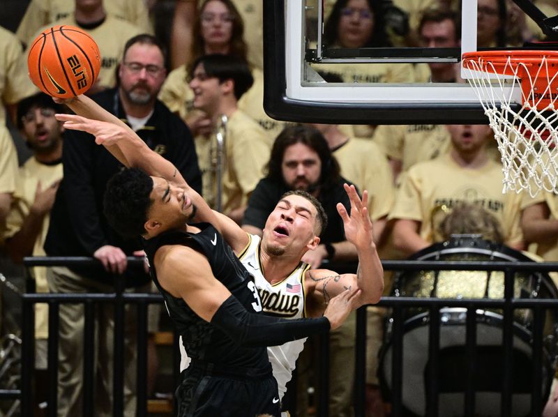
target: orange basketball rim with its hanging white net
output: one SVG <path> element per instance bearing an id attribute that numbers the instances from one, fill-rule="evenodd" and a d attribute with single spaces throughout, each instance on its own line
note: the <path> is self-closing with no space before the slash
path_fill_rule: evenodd
<path id="1" fill-rule="evenodd" d="M 502 154 L 504 192 L 528 190 L 534 197 L 541 189 L 558 193 L 558 61 L 543 55 L 540 62 L 525 61 L 476 56 L 463 66 Z"/>

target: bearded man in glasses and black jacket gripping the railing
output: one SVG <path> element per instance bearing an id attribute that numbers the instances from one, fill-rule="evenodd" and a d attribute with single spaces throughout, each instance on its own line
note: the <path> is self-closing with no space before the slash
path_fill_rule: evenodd
<path id="1" fill-rule="evenodd" d="M 151 35 L 128 40 L 119 68 L 119 86 L 93 96 L 101 107 L 126 121 L 150 149 L 171 161 L 192 187 L 201 190 L 201 174 L 190 130 L 157 100 L 165 80 L 162 45 Z M 49 256 L 92 256 L 98 268 L 54 267 L 47 271 L 52 292 L 114 292 L 114 274 L 124 285 L 149 291 L 149 276 L 130 271 L 126 256 L 144 255 L 137 239 L 124 240 L 103 215 L 103 195 L 107 181 L 122 169 L 102 146 L 96 146 L 84 132 L 67 132 L 63 151 L 64 180 L 52 208 L 45 251 Z M 101 266 L 102 264 L 102 266 Z M 104 269 L 103 269 L 104 266 Z M 128 306 L 132 308 L 131 306 Z M 102 310 L 102 311 L 101 311 Z M 102 378 L 96 415 L 112 409 L 112 312 L 98 309 L 99 344 L 96 357 Z M 102 317 L 101 317 L 102 316 Z M 126 335 L 135 334 L 134 314 L 126 314 Z M 59 415 L 82 413 L 83 306 L 60 306 Z M 128 339 L 129 337 L 127 337 Z M 135 407 L 135 341 L 126 340 L 126 412 Z"/>

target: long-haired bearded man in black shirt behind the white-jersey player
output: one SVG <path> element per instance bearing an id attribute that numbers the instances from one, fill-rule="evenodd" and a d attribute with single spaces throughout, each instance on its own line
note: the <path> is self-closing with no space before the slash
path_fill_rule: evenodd
<path id="1" fill-rule="evenodd" d="M 312 268 L 324 259 L 355 261 L 356 248 L 345 240 L 343 223 L 335 208 L 341 203 L 350 210 L 343 183 L 350 184 L 340 176 L 339 164 L 322 134 L 310 126 L 289 126 L 273 143 L 267 175 L 250 195 L 242 228 L 262 236 L 267 216 L 280 197 L 290 190 L 303 190 L 322 203 L 329 220 L 319 246 L 307 252 L 303 261 Z"/>

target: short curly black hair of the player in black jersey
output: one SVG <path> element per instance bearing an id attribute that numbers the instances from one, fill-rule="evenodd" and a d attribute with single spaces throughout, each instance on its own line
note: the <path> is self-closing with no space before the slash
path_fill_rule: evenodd
<path id="1" fill-rule="evenodd" d="M 153 179 L 139 168 L 123 169 L 107 183 L 103 212 L 109 225 L 124 238 L 145 234 L 147 212 L 153 203 L 151 190 Z"/>

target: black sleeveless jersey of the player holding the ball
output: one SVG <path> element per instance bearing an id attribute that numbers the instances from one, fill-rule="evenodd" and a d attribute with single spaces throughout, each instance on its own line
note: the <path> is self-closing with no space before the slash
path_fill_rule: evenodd
<path id="1" fill-rule="evenodd" d="M 252 275 L 234 255 L 223 236 L 209 223 L 193 225 L 199 233 L 168 231 L 144 241 L 145 252 L 151 265 L 151 278 L 157 285 L 169 316 L 174 321 L 188 356 L 193 361 L 232 367 L 267 368 L 269 358 L 265 347 L 241 347 L 225 333 L 200 318 L 182 298 L 176 298 L 163 289 L 157 279 L 153 258 L 163 245 L 185 245 L 207 258 L 213 275 L 249 312 L 261 312 L 262 305 Z"/>

